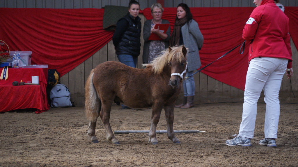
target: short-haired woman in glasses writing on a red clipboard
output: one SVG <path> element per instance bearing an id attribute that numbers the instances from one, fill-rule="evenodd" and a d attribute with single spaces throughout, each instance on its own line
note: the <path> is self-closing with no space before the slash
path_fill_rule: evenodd
<path id="1" fill-rule="evenodd" d="M 170 22 L 162 19 L 164 9 L 159 3 L 151 6 L 151 15 L 153 19 L 144 23 L 144 50 L 143 63 L 150 63 L 161 51 L 169 47 L 170 40 Z M 159 24 L 164 24 L 160 25 Z M 157 26 L 157 27 L 156 27 Z M 168 27 L 168 28 L 166 28 Z"/>

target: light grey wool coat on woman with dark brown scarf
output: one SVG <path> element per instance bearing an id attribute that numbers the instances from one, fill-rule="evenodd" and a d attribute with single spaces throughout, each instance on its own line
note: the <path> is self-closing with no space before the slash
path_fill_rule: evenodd
<path id="1" fill-rule="evenodd" d="M 199 56 L 199 50 L 203 46 L 203 35 L 199 29 L 198 23 L 195 20 L 184 24 L 181 27 L 183 44 L 188 48 L 186 55 L 187 59 L 187 70 L 193 71 L 201 67 L 201 60 Z"/>

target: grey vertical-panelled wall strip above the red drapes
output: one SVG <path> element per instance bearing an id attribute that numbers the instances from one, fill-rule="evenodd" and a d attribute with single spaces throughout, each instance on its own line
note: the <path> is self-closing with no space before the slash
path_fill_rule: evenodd
<path id="1" fill-rule="evenodd" d="M 156 0 L 136 0 L 140 8 L 151 7 Z M 0 7 L 13 8 L 102 8 L 105 5 L 128 6 L 129 0 L 0 0 Z M 177 7 L 179 3 L 189 7 L 255 7 L 253 0 L 164 0 L 164 7 Z M 298 6 L 297 0 L 280 0 L 284 6 Z"/>

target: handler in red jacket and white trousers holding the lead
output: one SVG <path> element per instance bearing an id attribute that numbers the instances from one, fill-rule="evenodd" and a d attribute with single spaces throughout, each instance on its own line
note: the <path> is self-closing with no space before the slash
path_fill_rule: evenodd
<path id="1" fill-rule="evenodd" d="M 260 145 L 276 147 L 280 115 L 278 94 L 286 68 L 293 75 L 289 19 L 274 3 L 278 0 L 254 0 L 256 8 L 243 29 L 243 39 L 250 41 L 249 68 L 246 75 L 242 122 L 239 134 L 228 146 L 251 146 L 257 116 L 257 101 L 262 89 L 266 103 L 265 139 Z"/>

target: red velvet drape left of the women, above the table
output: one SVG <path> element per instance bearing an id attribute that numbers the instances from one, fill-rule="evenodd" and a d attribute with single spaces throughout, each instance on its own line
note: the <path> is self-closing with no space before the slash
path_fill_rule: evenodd
<path id="1" fill-rule="evenodd" d="M 60 75 L 84 62 L 113 36 L 103 30 L 104 9 L 0 8 L 0 40 L 11 51 L 32 51 L 31 64 Z"/>

